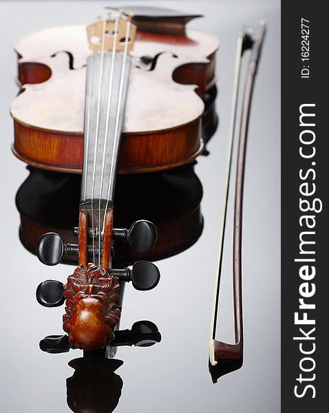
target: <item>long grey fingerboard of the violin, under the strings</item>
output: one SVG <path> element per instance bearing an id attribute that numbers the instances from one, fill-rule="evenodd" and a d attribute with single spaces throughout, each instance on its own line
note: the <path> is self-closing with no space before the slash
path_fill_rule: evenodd
<path id="1" fill-rule="evenodd" d="M 87 60 L 81 201 L 112 201 L 131 58 L 99 52 Z"/>

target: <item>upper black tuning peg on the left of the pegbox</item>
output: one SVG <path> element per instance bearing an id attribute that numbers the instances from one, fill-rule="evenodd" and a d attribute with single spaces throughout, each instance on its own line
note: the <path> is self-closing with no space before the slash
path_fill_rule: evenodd
<path id="1" fill-rule="evenodd" d="M 78 245 L 65 244 L 59 234 L 46 233 L 36 243 L 36 255 L 45 265 L 56 265 L 64 255 L 78 255 Z"/>

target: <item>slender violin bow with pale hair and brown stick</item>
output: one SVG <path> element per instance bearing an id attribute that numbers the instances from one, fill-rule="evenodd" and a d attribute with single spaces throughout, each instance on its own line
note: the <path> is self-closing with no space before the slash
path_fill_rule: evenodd
<path id="1" fill-rule="evenodd" d="M 226 180 L 224 186 L 224 208 L 220 232 L 218 273 L 215 279 L 215 294 L 213 299 L 213 312 L 211 316 L 211 331 L 209 340 L 209 362 L 217 366 L 220 361 L 238 361 L 243 357 L 243 319 L 242 319 L 242 204 L 244 191 L 244 169 L 246 162 L 246 144 L 248 137 L 248 124 L 251 112 L 251 100 L 255 85 L 257 67 L 262 52 L 262 45 L 266 33 L 266 23 L 259 23 L 259 30 L 255 40 L 249 34 L 240 33 L 237 40 L 237 54 L 235 63 L 235 81 L 233 87 L 233 103 L 231 117 L 231 132 L 226 162 Z M 229 184 L 232 169 L 233 141 L 235 135 L 235 120 L 237 112 L 237 98 L 240 85 L 242 54 L 251 49 L 251 58 L 246 74 L 244 97 L 242 100 L 240 133 L 237 149 L 237 165 L 235 178 L 235 207 L 233 218 L 233 305 L 234 305 L 234 330 L 235 343 L 224 343 L 215 339 L 217 310 L 220 296 L 220 277 L 222 274 L 223 247 L 226 227 L 226 212 L 229 199 Z M 242 366 L 240 363 L 239 367 Z M 231 371 L 237 370 L 233 368 Z M 222 373 L 223 374 L 223 373 Z M 220 375 L 222 375 L 220 374 Z"/>

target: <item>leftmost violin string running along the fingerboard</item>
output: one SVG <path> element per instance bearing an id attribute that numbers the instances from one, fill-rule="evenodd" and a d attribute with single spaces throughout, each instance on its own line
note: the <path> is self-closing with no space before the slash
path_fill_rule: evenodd
<path id="1" fill-rule="evenodd" d="M 98 144 L 98 128 L 99 128 L 99 118 L 100 118 L 100 98 L 102 93 L 103 84 L 103 64 L 104 64 L 104 50 L 105 50 L 105 29 L 106 29 L 106 19 L 103 19 L 103 30 L 102 30 L 102 49 L 100 53 L 100 68 L 99 68 L 99 80 L 98 80 L 98 105 L 96 114 L 96 131 L 95 131 L 95 145 L 94 145 L 94 169 L 92 173 L 92 254 L 93 262 L 95 262 L 95 229 L 94 229 L 94 189 L 95 189 L 95 176 L 96 176 L 96 156 L 97 156 L 97 144 Z M 99 231 L 99 229 L 98 229 Z M 99 248 L 99 246 L 98 246 Z M 98 263 L 99 266 L 99 263 Z"/>

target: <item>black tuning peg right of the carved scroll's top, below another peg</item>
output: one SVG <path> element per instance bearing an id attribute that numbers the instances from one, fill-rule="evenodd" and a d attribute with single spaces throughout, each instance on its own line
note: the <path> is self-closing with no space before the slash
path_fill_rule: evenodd
<path id="1" fill-rule="evenodd" d="M 151 290 L 158 285 L 160 280 L 160 271 L 156 265 L 148 261 L 138 261 L 132 268 L 123 268 L 120 270 L 111 269 L 111 275 L 118 277 L 120 281 L 132 282 L 134 288 L 140 291 Z"/>

